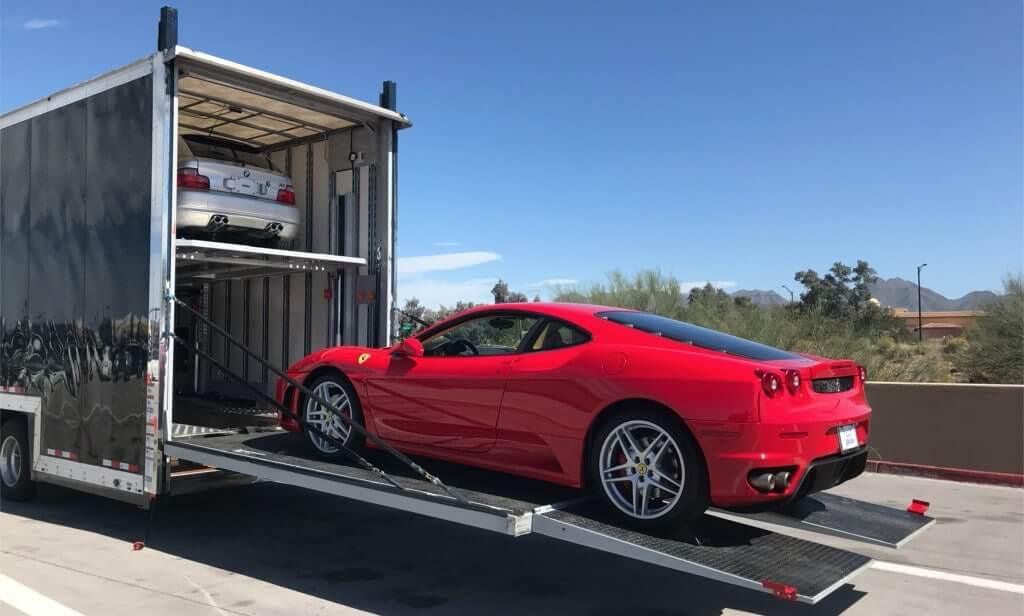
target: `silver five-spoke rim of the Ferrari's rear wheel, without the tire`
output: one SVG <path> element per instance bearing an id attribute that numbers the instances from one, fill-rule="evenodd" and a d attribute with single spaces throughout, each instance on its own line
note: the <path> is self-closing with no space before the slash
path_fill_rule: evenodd
<path id="1" fill-rule="evenodd" d="M 660 518 L 679 502 L 686 466 L 676 439 L 651 422 L 633 420 L 614 428 L 598 457 L 601 487 L 624 514 Z"/>

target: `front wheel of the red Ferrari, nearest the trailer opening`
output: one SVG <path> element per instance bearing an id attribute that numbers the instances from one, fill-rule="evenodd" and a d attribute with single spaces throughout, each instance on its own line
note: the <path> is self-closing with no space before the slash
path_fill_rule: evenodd
<path id="1" fill-rule="evenodd" d="M 333 407 L 326 407 L 308 396 L 303 401 L 304 433 L 316 454 L 329 459 L 344 457 L 344 450 L 332 439 L 341 441 L 349 449 L 360 448 L 362 437 L 352 429 L 352 423 L 362 426 L 362 408 L 348 381 L 338 373 L 325 375 L 316 379 L 309 389 Z M 310 430 L 310 427 L 316 431 Z M 324 434 L 332 439 L 325 438 Z"/>

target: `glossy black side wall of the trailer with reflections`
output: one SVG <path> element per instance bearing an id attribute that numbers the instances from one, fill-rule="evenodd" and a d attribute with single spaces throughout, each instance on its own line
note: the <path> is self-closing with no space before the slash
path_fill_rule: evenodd
<path id="1" fill-rule="evenodd" d="M 133 471 L 158 331 L 152 99 L 144 77 L 0 132 L 0 388 L 42 398 L 42 453 Z"/>

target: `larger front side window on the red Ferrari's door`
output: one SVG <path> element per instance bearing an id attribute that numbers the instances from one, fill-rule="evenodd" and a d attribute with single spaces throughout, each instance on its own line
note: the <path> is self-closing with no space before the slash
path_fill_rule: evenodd
<path id="1" fill-rule="evenodd" d="M 525 315 L 489 314 L 434 334 L 423 341 L 428 357 L 472 357 L 475 355 L 511 355 L 537 323 Z"/>

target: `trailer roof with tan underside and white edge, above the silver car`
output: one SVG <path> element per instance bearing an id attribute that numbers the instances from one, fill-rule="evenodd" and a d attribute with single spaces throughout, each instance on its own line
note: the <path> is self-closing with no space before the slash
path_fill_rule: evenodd
<path id="1" fill-rule="evenodd" d="M 170 57 L 178 71 L 179 124 L 186 132 L 266 148 L 381 119 L 399 128 L 411 125 L 391 109 L 187 47 L 175 47 Z"/>

